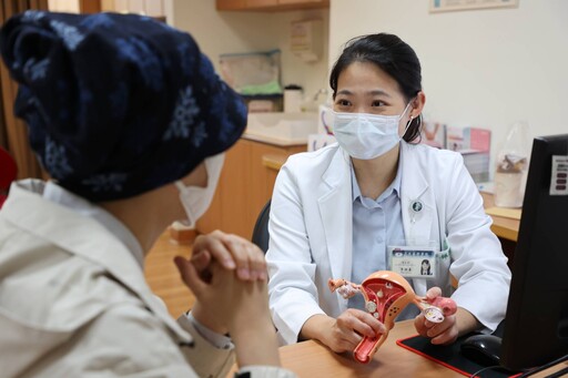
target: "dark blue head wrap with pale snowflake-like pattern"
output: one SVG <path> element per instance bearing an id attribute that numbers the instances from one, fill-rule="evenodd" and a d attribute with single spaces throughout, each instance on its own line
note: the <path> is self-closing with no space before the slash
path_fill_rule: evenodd
<path id="1" fill-rule="evenodd" d="M 28 11 L 2 27 L 0 49 L 31 147 L 93 202 L 183 177 L 246 125 L 191 35 L 148 17 Z"/>

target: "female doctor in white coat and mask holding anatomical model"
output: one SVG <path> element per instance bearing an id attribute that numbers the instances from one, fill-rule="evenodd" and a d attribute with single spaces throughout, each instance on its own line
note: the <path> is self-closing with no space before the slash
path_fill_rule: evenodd
<path id="1" fill-rule="evenodd" d="M 414 306 L 399 315 L 433 344 L 504 318 L 510 272 L 477 187 L 458 153 L 418 144 L 420 81 L 416 53 L 392 34 L 349 41 L 335 63 L 338 144 L 291 156 L 272 198 L 266 258 L 281 341 L 317 339 L 341 353 L 384 333 L 361 295 L 347 300 L 327 288 L 329 278 L 359 284 L 383 269 L 400 273 L 417 295 L 457 303 L 437 325 Z M 429 277 L 419 275 L 425 256 Z"/>

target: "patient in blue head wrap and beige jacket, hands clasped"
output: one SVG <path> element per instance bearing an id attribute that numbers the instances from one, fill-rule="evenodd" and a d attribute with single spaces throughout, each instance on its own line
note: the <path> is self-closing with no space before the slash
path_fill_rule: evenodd
<path id="1" fill-rule="evenodd" d="M 53 178 L 0 212 L 2 377 L 293 377 L 280 368 L 262 252 L 215 232 L 175 263 L 173 320 L 144 256 L 207 208 L 246 108 L 186 33 L 139 16 L 29 11 L 1 30 L 16 114 Z M 231 335 L 231 338 L 226 335 Z"/>

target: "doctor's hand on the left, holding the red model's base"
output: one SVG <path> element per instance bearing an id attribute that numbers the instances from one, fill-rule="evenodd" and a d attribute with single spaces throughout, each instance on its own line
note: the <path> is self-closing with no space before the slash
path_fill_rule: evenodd
<path id="1" fill-rule="evenodd" d="M 315 338 L 335 353 L 353 351 L 363 336 L 375 337 L 386 333 L 385 325 L 371 314 L 348 308 L 337 319 L 314 315 L 302 327 L 304 338 Z"/>

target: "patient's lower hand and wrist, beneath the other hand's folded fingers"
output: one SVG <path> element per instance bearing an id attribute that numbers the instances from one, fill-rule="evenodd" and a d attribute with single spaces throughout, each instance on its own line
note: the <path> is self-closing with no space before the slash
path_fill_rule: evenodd
<path id="1" fill-rule="evenodd" d="M 241 367 L 280 365 L 265 280 L 240 279 L 235 270 L 213 262 L 209 266 L 211 279 L 204 282 L 191 262 L 180 257 L 175 264 L 196 297 L 193 317 L 217 334 L 231 335 Z"/>

